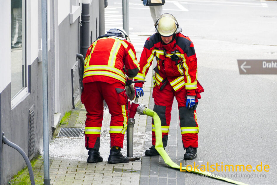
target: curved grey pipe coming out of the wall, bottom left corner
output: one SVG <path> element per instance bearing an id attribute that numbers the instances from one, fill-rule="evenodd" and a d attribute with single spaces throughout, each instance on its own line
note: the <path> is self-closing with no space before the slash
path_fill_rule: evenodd
<path id="1" fill-rule="evenodd" d="M 4 136 L 4 132 L 2 134 L 2 142 L 8 146 L 10 146 L 11 148 L 16 149 L 17 151 L 19 151 L 19 153 L 22 155 L 22 157 L 24 158 L 27 167 L 28 167 L 28 171 L 29 171 L 29 176 L 30 176 L 30 181 L 32 185 L 35 185 L 35 181 L 34 181 L 34 173 L 33 173 L 33 169 L 32 169 L 32 165 L 29 161 L 29 158 L 27 157 L 26 153 L 22 150 L 22 148 L 20 148 L 18 145 L 12 143 L 11 141 L 9 141 L 5 136 Z"/>

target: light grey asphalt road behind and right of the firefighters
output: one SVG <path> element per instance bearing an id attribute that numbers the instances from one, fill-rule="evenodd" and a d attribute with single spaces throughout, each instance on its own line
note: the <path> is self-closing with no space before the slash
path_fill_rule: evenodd
<path id="1" fill-rule="evenodd" d="M 108 1 L 114 14 L 111 27 L 120 27 L 121 2 Z M 129 2 L 131 41 L 139 56 L 154 23 L 142 1 Z M 276 9 L 277 1 L 258 0 L 166 0 L 163 6 L 194 43 L 198 80 L 205 90 L 197 107 L 200 130 L 194 161 L 199 168 L 207 162 L 251 165 L 244 172 L 224 171 L 224 166 L 212 172 L 247 184 L 277 184 L 277 76 L 240 75 L 237 59 L 277 59 Z M 257 172 L 261 162 L 267 171 Z M 184 175 L 184 183 L 225 184 L 194 174 Z"/>

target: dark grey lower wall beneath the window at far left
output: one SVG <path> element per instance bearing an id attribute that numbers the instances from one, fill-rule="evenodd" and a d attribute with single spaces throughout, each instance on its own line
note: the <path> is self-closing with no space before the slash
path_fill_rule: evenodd
<path id="1" fill-rule="evenodd" d="M 43 125 L 42 125 L 42 64 L 37 59 L 28 66 L 31 70 L 29 78 L 31 91 L 24 97 L 23 101 L 11 109 L 11 84 L 9 84 L 0 95 L 1 130 L 5 137 L 11 142 L 19 145 L 25 153 L 28 153 L 29 135 L 29 108 L 34 104 L 34 140 L 35 156 L 42 148 Z M 1 183 L 7 184 L 12 176 L 17 174 L 26 163 L 20 153 L 7 145 L 1 146 Z"/>

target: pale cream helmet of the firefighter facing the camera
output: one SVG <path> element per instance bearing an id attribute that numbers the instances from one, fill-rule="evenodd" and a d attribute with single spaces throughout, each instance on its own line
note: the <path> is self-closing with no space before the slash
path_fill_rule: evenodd
<path id="1" fill-rule="evenodd" d="M 179 25 L 172 14 L 162 14 L 154 24 L 156 32 L 163 37 L 169 37 L 176 33 Z"/>

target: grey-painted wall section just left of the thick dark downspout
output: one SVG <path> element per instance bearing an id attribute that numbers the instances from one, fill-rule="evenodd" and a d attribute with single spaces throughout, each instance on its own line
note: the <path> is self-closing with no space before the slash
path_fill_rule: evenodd
<path id="1" fill-rule="evenodd" d="M 59 83 L 60 113 L 62 115 L 72 109 L 71 68 L 76 62 L 78 53 L 78 19 L 69 23 L 69 15 L 59 25 Z"/>

